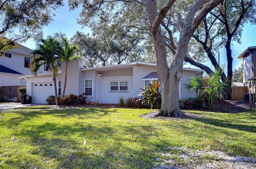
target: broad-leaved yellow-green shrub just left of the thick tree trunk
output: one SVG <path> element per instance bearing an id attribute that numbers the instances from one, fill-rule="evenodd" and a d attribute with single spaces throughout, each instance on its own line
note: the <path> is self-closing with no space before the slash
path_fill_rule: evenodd
<path id="1" fill-rule="evenodd" d="M 139 94 L 138 96 L 142 96 L 142 98 L 138 100 L 142 100 L 142 104 L 150 104 L 150 108 L 160 108 L 161 107 L 161 101 L 162 101 L 162 94 L 159 92 L 159 81 L 153 80 L 153 83 L 151 86 L 144 86 L 146 89 L 142 89 L 143 92 Z"/>

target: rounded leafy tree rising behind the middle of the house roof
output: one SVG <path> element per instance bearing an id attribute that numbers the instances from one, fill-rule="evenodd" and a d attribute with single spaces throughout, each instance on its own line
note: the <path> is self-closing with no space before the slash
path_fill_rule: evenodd
<path id="1" fill-rule="evenodd" d="M 81 49 L 85 58 L 85 67 L 106 66 L 141 59 L 141 38 L 130 34 L 122 23 L 108 21 L 109 16 L 102 18 L 101 24 L 91 28 L 92 35 L 77 32 L 72 40 Z"/>

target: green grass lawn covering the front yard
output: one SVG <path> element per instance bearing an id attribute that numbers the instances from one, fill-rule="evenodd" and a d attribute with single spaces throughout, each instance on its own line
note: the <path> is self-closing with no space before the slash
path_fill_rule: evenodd
<path id="1" fill-rule="evenodd" d="M 178 159 L 182 150 L 172 148 L 181 146 L 191 151 L 219 150 L 256 157 L 255 111 L 238 114 L 187 111 L 202 115 L 187 120 L 139 117 L 149 111 L 122 108 L 2 111 L 0 168 L 144 169 L 152 167 L 163 151 L 175 154 L 177 162 L 183 163 Z"/>

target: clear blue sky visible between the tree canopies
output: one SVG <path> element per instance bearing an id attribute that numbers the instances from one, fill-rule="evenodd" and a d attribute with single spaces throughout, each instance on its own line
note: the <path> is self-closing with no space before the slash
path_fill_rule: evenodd
<path id="1" fill-rule="evenodd" d="M 53 35 L 55 32 L 62 32 L 67 35 L 68 38 L 72 37 L 76 31 L 82 31 L 84 33 L 90 33 L 89 28 L 83 28 L 82 26 L 78 25 L 76 22 L 76 18 L 79 17 L 80 9 L 76 9 L 74 11 L 70 11 L 68 9 L 67 0 L 64 0 L 65 6 L 62 6 L 55 12 L 56 16 L 53 17 L 53 22 L 46 26 L 43 29 L 44 38 L 48 35 Z M 22 45 L 30 48 L 35 49 L 36 44 L 34 41 L 29 40 L 26 43 L 22 43 Z M 233 42 L 233 46 L 231 47 L 232 55 L 233 55 L 233 69 L 238 68 L 242 60 L 237 59 L 238 55 L 242 53 L 247 47 L 249 46 L 256 46 L 256 25 L 247 24 L 244 27 L 244 31 L 242 32 L 242 44 L 237 44 Z M 226 51 L 224 48 L 220 50 L 220 64 L 227 65 L 226 62 Z M 206 64 L 208 67 L 211 67 L 210 61 Z M 193 65 L 184 65 L 184 67 L 191 67 L 194 68 Z"/>

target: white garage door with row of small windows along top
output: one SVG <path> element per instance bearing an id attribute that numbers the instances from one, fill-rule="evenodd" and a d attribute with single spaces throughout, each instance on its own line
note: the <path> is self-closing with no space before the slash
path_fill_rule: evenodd
<path id="1" fill-rule="evenodd" d="M 33 83 L 33 103 L 46 103 L 46 99 L 52 95 L 53 85 L 48 83 Z"/>

